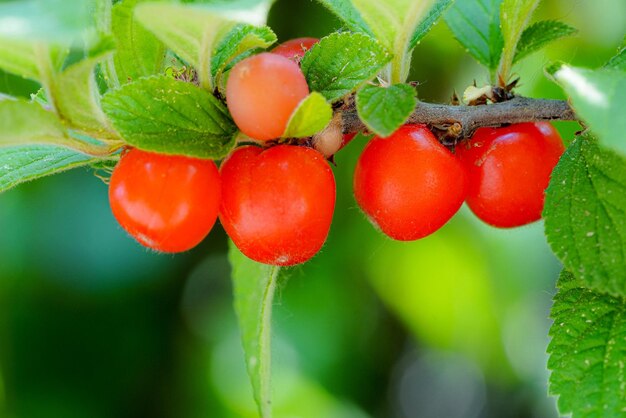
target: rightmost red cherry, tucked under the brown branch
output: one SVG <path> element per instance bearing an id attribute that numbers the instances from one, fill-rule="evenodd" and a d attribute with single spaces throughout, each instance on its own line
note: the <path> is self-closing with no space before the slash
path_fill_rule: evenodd
<path id="1" fill-rule="evenodd" d="M 468 206 L 500 228 L 539 220 L 550 174 L 564 151 L 547 122 L 477 130 L 456 147 L 468 175 Z"/>

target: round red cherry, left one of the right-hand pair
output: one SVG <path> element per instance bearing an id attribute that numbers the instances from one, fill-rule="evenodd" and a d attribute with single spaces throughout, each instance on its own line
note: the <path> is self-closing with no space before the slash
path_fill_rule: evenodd
<path id="1" fill-rule="evenodd" d="M 466 193 L 461 163 L 424 125 L 374 137 L 354 173 L 354 195 L 370 221 L 393 239 L 411 241 L 441 228 Z"/>

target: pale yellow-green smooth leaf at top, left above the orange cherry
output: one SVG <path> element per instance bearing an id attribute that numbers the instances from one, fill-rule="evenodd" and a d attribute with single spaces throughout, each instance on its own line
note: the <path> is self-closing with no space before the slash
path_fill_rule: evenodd
<path id="1" fill-rule="evenodd" d="M 202 86 L 213 90 L 211 60 L 219 41 L 235 26 L 214 12 L 193 6 L 144 3 L 136 19 L 198 71 Z"/>

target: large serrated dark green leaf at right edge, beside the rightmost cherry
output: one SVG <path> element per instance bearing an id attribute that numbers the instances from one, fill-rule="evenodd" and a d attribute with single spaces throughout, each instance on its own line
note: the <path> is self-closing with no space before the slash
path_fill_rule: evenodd
<path id="1" fill-rule="evenodd" d="M 626 160 L 577 138 L 546 191 L 546 236 L 567 270 L 613 295 L 626 295 L 625 213 Z"/>

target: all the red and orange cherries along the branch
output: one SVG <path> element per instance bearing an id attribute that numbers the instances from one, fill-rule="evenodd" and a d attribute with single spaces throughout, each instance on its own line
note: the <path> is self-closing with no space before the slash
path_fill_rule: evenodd
<path id="1" fill-rule="evenodd" d="M 354 134 L 340 135 L 331 152 L 275 139 L 309 94 L 299 61 L 316 42 L 294 39 L 233 67 L 228 109 L 260 146 L 239 146 L 219 170 L 210 160 L 126 151 L 109 188 L 122 227 L 147 247 L 181 252 L 199 244 L 219 217 L 253 260 L 286 266 L 313 257 L 335 207 L 327 157 Z M 488 224 L 520 226 L 541 217 L 544 190 L 563 151 L 548 123 L 481 128 L 454 153 L 425 125 L 405 125 L 369 141 L 357 163 L 354 195 L 370 221 L 397 240 L 435 232 L 464 201 Z"/>

